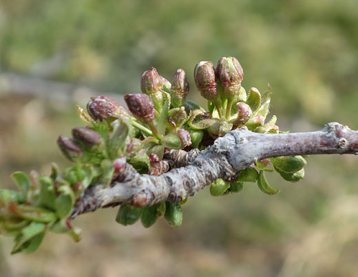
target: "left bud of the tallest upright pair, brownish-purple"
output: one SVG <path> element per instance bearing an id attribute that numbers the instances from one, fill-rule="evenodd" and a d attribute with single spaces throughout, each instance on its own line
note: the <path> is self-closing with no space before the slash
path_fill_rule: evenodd
<path id="1" fill-rule="evenodd" d="M 215 81 L 215 69 L 211 61 L 202 61 L 196 65 L 194 79 L 202 97 L 213 102 L 220 98 L 218 85 Z"/>

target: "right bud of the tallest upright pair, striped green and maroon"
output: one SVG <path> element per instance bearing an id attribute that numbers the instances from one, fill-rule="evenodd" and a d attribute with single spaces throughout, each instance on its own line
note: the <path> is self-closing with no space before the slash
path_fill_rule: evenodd
<path id="1" fill-rule="evenodd" d="M 239 61 L 234 57 L 220 58 L 216 73 L 222 84 L 224 96 L 228 100 L 233 100 L 235 95 L 240 93 L 241 81 L 244 78 L 244 71 Z"/>

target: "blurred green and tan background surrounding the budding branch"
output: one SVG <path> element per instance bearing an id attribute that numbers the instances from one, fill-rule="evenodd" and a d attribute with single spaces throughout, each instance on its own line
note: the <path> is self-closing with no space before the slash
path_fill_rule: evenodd
<path id="1" fill-rule="evenodd" d="M 196 63 L 235 56 L 246 89 L 270 83 L 282 130 L 357 129 L 357 14 L 356 0 L 1 0 L 1 187 L 14 188 L 14 170 L 67 166 L 55 140 L 81 126 L 74 102 L 139 92 L 151 66 L 169 80 L 185 69 L 189 98 L 201 101 Z M 357 276 L 357 166 L 352 155 L 309 157 L 299 184 L 268 176 L 275 196 L 204 190 L 183 206 L 178 230 L 123 227 L 107 209 L 74 221 L 78 244 L 48 234 L 35 254 L 10 256 L 1 237 L 0 275 Z"/>

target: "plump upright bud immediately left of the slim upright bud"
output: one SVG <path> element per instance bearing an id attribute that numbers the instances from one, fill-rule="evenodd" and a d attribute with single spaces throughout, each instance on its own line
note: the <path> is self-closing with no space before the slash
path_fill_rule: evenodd
<path id="1" fill-rule="evenodd" d="M 161 89 L 163 87 L 163 79 L 154 67 L 145 71 L 142 78 L 140 78 L 141 91 L 150 96 L 157 111 L 162 110 L 163 96 Z"/>

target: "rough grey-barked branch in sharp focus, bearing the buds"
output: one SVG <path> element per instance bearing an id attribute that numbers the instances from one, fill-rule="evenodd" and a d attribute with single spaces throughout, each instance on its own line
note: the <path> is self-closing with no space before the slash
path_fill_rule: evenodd
<path id="1" fill-rule="evenodd" d="M 171 168 L 160 176 L 140 175 L 129 164 L 120 181 L 103 188 L 90 186 L 78 199 L 71 217 L 97 208 L 130 203 L 137 207 L 161 201 L 180 202 L 196 195 L 215 179 L 231 181 L 240 170 L 267 157 L 317 154 L 358 154 L 358 131 L 337 122 L 322 131 L 308 133 L 262 134 L 246 127 L 215 140 L 204 151 L 169 151 L 165 163 Z"/>

